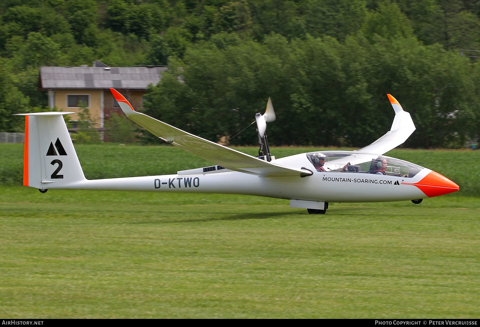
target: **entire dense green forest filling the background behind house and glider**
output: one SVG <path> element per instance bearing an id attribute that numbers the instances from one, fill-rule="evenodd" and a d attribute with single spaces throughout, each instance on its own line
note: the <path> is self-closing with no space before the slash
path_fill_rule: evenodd
<path id="1" fill-rule="evenodd" d="M 2 0 L 0 131 L 45 110 L 39 66 L 98 59 L 168 65 L 145 113 L 210 140 L 270 96 L 271 143 L 364 146 L 390 128 L 391 93 L 417 126 L 405 146 L 463 147 L 479 137 L 480 52 L 460 49 L 480 50 L 479 0 Z"/>

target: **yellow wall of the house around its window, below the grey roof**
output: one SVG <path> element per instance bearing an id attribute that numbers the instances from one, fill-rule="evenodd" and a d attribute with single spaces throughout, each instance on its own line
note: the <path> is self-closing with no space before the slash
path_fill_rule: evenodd
<path id="1" fill-rule="evenodd" d="M 88 111 L 92 117 L 92 123 L 102 123 L 102 90 L 55 90 L 54 104 L 60 111 L 73 111 L 75 114 L 69 115 L 72 120 L 79 120 L 78 112 L 80 108 L 69 107 L 67 103 L 68 94 L 88 94 L 90 95 Z"/>

